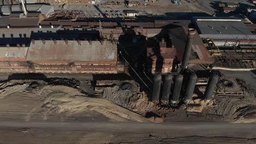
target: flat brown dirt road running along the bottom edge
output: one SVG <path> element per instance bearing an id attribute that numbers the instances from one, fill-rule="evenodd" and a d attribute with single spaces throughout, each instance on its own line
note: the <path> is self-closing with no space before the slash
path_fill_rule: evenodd
<path id="1" fill-rule="evenodd" d="M 0 123 L 0 143 L 255 143 L 256 124 Z"/>

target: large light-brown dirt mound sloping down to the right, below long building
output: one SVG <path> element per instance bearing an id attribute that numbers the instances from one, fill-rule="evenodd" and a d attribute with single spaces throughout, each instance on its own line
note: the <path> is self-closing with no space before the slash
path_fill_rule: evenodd
<path id="1" fill-rule="evenodd" d="M 63 83 L 61 80 L 58 83 Z M 0 117 L 26 121 L 148 122 L 146 118 L 103 98 L 91 98 L 79 89 L 38 80 L 1 83 Z"/>

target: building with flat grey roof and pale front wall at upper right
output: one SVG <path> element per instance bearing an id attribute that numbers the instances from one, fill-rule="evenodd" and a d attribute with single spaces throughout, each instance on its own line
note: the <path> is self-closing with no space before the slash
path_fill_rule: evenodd
<path id="1" fill-rule="evenodd" d="M 230 17 L 195 17 L 193 23 L 202 39 L 212 39 L 217 46 L 255 45 L 256 36 L 241 19 Z"/>

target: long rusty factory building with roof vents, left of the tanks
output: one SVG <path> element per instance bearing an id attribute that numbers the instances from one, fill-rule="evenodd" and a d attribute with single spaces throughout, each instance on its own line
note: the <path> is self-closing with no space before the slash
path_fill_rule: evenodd
<path id="1" fill-rule="evenodd" d="M 32 40 L 1 47 L 1 73 L 118 73 L 117 44 L 91 40 Z"/>

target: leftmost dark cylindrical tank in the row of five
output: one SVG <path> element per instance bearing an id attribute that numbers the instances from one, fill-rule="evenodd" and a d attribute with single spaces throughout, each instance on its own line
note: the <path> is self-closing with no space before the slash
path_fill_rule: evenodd
<path id="1" fill-rule="evenodd" d="M 152 101 L 158 101 L 160 91 L 161 91 L 162 76 L 161 75 L 154 75 L 154 80 L 153 81 L 154 82 L 153 82 Z"/>

